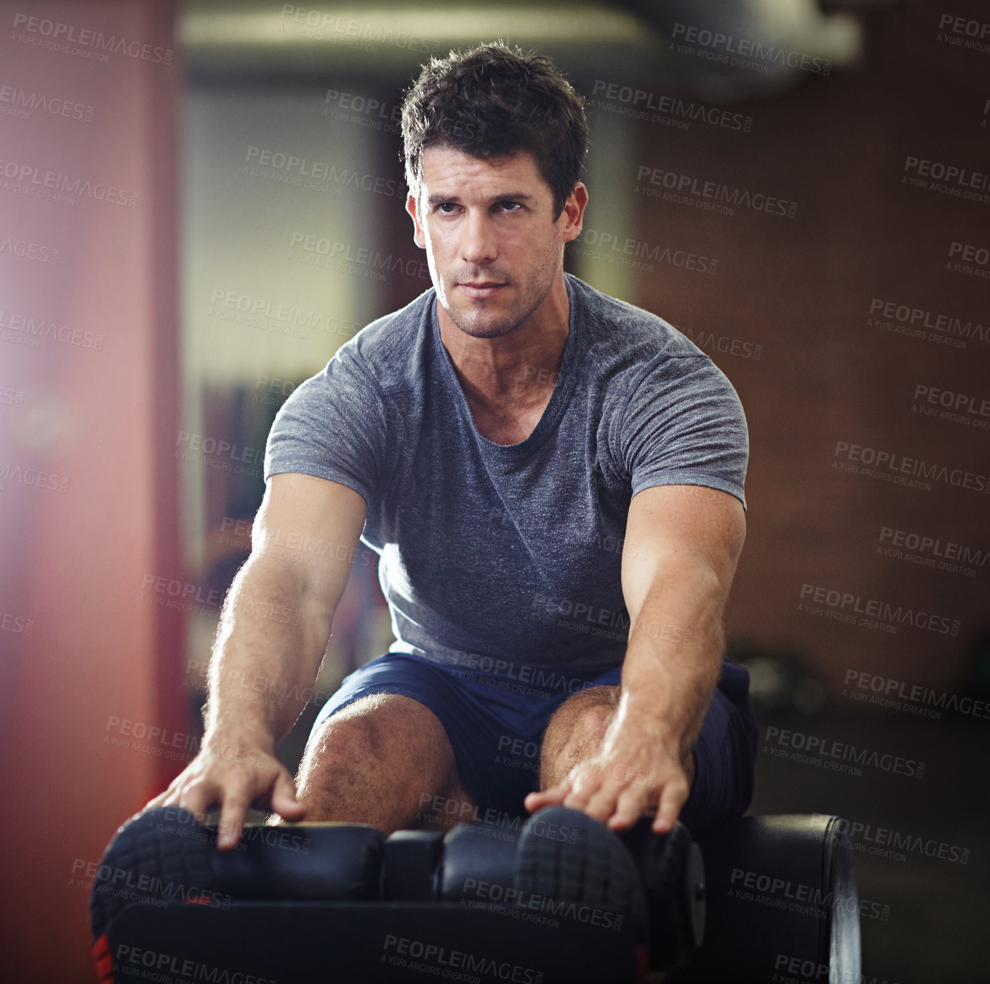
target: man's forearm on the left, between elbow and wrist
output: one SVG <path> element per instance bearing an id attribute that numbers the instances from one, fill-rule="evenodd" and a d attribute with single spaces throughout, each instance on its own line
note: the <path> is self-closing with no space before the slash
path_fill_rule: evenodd
<path id="1" fill-rule="evenodd" d="M 271 750 L 312 693 L 333 610 L 298 563 L 252 554 L 224 604 L 209 671 L 206 738 Z"/>

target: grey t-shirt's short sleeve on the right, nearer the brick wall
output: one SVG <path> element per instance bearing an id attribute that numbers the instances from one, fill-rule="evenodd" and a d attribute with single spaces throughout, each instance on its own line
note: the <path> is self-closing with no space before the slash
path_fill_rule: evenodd
<path id="1" fill-rule="evenodd" d="M 704 485 L 736 496 L 745 509 L 743 404 L 704 353 L 652 359 L 634 384 L 619 429 L 618 454 L 633 495 L 653 485 Z"/>

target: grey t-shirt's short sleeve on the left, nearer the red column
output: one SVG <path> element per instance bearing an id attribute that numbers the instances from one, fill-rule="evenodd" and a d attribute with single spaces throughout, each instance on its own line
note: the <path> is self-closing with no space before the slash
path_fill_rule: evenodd
<path id="1" fill-rule="evenodd" d="M 347 485 L 370 503 L 386 473 L 387 447 L 380 390 L 345 344 L 278 411 L 265 447 L 264 478 L 316 475 Z"/>

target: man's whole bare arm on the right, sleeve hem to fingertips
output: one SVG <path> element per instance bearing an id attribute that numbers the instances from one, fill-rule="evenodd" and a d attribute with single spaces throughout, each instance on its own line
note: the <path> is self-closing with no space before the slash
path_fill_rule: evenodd
<path id="1" fill-rule="evenodd" d="M 718 682 L 722 614 L 744 539 L 742 504 L 728 493 L 668 485 L 633 497 L 619 707 L 599 754 L 534 794 L 531 809 L 563 803 L 617 830 L 655 810 L 653 830 L 670 830 L 690 791 L 691 749 Z"/>

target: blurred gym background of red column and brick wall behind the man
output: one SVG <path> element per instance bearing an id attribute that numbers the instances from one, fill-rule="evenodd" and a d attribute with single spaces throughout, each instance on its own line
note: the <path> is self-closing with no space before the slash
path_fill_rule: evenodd
<path id="1" fill-rule="evenodd" d="M 92 869 L 198 747 L 274 415 L 430 286 L 403 91 L 431 54 L 502 39 L 589 100 L 567 269 L 666 318 L 743 400 L 727 632 L 761 725 L 751 812 L 848 818 L 864 981 L 986 980 L 984 4 L 2 0 L 0 27 L 13 977 L 93 979 Z M 364 551 L 291 768 L 391 640 Z M 859 766 L 809 752 L 833 741 Z M 914 775 L 876 764 L 896 757 Z"/>

